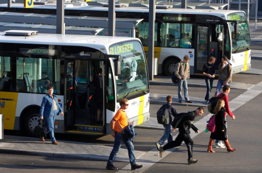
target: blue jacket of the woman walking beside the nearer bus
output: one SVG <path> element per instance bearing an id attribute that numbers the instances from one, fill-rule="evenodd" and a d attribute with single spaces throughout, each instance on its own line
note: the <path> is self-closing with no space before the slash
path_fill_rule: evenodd
<path id="1" fill-rule="evenodd" d="M 53 110 L 53 99 L 56 102 L 57 110 Z M 43 97 L 40 112 L 39 112 L 40 116 L 50 117 L 50 116 L 58 115 L 59 112 L 62 112 L 62 108 L 58 104 L 57 97 L 54 94 L 53 94 L 53 99 L 49 94 L 47 94 Z"/>

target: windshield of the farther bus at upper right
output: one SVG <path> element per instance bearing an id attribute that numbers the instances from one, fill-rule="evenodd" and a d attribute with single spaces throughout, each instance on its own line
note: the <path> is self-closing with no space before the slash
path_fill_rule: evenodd
<path id="1" fill-rule="evenodd" d="M 232 38 L 232 53 L 245 51 L 250 47 L 250 36 L 247 19 L 244 13 L 237 12 L 227 15 L 228 20 L 236 20 L 238 23 L 238 33 L 234 33 L 234 23 L 229 22 L 229 30 Z"/>

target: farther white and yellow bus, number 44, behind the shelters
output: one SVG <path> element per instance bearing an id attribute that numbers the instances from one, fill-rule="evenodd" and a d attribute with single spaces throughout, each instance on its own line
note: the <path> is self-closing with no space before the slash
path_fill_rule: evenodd
<path id="1" fill-rule="evenodd" d="M 134 37 L 136 34 L 141 39 L 147 56 L 148 1 L 119 0 L 118 2 L 115 7 L 115 17 L 123 20 L 134 19 L 134 22 L 138 21 L 137 19 L 142 19 L 142 21 L 139 20 L 133 30 L 116 27 L 116 35 Z M 90 1 L 86 3 L 88 5 L 66 4 L 64 15 L 77 18 L 78 22 L 74 23 L 76 26 L 83 26 L 81 23 L 84 23 L 88 17 L 108 17 L 107 2 Z M 210 56 L 216 58 L 214 64 L 216 70 L 223 55 L 228 57 L 233 73 L 245 71 L 251 67 L 249 27 L 244 11 L 206 8 L 181 9 L 177 8 L 176 4 L 172 5 L 172 2 L 161 1 L 157 2 L 155 8 L 154 57 L 158 58 L 159 74 L 171 75 L 175 64 L 185 54 L 191 58 L 189 61 L 190 74 L 201 74 L 203 64 L 208 62 Z M 34 16 L 31 14 L 56 14 L 55 4 L 35 4 L 33 8 L 26 9 L 19 3 L 13 4 L 12 8 L 7 8 L 5 4 L 0 5 L 0 10 L 16 13 L 27 12 L 30 18 Z M 5 15 L 4 12 L 2 14 Z M 12 14 L 6 13 L 6 15 L 10 18 Z M 106 35 L 107 28 L 104 27 L 99 34 Z M 181 40 L 182 35 L 186 35 L 183 38 L 187 40 L 186 43 Z"/>

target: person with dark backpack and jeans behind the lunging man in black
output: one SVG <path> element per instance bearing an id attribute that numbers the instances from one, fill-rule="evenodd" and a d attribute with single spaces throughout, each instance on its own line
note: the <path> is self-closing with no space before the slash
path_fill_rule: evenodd
<path id="1" fill-rule="evenodd" d="M 173 106 L 171 106 L 171 102 L 172 102 L 172 97 L 170 95 L 166 96 L 166 104 L 163 104 L 159 110 L 156 112 L 156 114 L 162 110 L 162 109 L 168 109 L 168 116 L 169 116 L 169 123 L 168 124 L 163 124 L 164 126 L 164 134 L 162 135 L 162 137 L 155 143 L 156 148 L 159 151 L 159 147 L 161 144 L 163 144 L 163 142 L 167 139 L 167 142 L 170 142 L 173 140 L 173 136 L 172 136 L 172 131 L 171 131 L 171 122 L 172 122 L 172 116 L 174 117 L 178 114 L 175 110 L 175 108 Z M 164 110 L 165 111 L 165 110 Z"/>

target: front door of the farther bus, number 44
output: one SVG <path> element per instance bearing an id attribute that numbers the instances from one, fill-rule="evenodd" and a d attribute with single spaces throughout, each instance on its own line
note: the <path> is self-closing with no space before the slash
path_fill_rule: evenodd
<path id="1" fill-rule="evenodd" d="M 207 58 L 209 50 L 209 25 L 198 24 L 196 25 L 195 35 L 195 59 L 194 59 L 194 73 L 202 73 L 203 65 L 208 62 Z"/>

